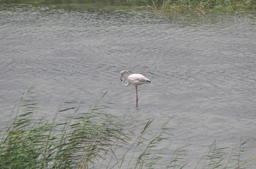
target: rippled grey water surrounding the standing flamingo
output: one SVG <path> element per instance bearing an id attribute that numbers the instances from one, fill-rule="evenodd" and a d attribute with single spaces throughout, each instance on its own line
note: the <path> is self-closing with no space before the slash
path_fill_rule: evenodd
<path id="1" fill-rule="evenodd" d="M 185 168 L 195 167 L 213 141 L 231 152 L 241 135 L 255 138 L 255 30 L 254 14 L 10 7 L 0 11 L 0 122 L 32 85 L 38 113 L 49 119 L 72 91 L 67 99 L 83 101 L 87 111 L 108 90 L 108 112 L 134 121 L 135 133 L 152 118 L 159 128 L 173 117 L 174 136 L 159 149 L 189 145 Z M 153 82 L 138 87 L 139 109 L 135 87 L 119 80 L 121 70 Z M 242 160 L 255 157 L 255 141 L 243 149 Z"/>

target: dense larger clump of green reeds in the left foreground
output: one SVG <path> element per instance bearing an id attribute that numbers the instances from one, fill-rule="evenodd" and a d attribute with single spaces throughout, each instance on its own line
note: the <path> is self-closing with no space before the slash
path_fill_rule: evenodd
<path id="1" fill-rule="evenodd" d="M 15 117 L 10 118 L 0 133 L 1 169 L 86 169 L 95 165 L 97 168 L 121 168 L 126 165 L 143 168 L 161 163 L 163 154 L 154 153 L 154 148 L 169 138 L 167 123 L 152 136 L 148 131 L 150 120 L 136 137 L 129 130 L 130 125 L 126 125 L 126 120 L 108 114 L 104 107 L 97 105 L 77 114 L 80 104 L 61 108 L 64 103 L 69 103 L 65 101 L 52 121 L 35 118 L 38 105 L 33 93 L 32 88 L 24 91 Z M 73 113 L 64 121 L 56 122 L 58 113 L 64 111 Z M 118 149 L 124 152 L 121 157 L 116 156 Z M 141 154 L 134 162 L 138 149 Z M 133 157 L 127 160 L 126 155 L 132 150 Z"/>

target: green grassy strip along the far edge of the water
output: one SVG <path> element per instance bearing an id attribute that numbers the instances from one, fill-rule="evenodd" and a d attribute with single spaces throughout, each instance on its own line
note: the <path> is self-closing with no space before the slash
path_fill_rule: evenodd
<path id="1" fill-rule="evenodd" d="M 255 11 L 256 0 L 0 0 L 3 6 L 55 9 L 154 10 L 165 13 L 240 13 Z"/>

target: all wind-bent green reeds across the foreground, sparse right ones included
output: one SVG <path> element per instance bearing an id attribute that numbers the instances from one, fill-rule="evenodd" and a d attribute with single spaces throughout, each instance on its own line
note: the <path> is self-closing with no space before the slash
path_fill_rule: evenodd
<path id="1" fill-rule="evenodd" d="M 0 131 L 1 169 L 182 169 L 188 164 L 188 146 L 178 146 L 170 153 L 159 150 L 161 144 L 175 141 L 174 129 L 167 127 L 172 119 L 160 127 L 151 127 L 153 120 L 145 121 L 145 127 L 134 133 L 128 119 L 108 114 L 108 106 L 98 102 L 93 109 L 78 113 L 80 104 L 64 98 L 50 121 L 35 118 L 38 104 L 34 93 L 32 88 L 24 91 Z M 67 107 L 74 103 L 78 105 Z M 67 111 L 70 116 L 57 121 L 57 115 Z M 195 169 L 244 168 L 256 159 L 242 160 L 249 140 L 241 138 L 239 149 L 231 152 L 227 147 L 218 148 L 214 141 Z"/>

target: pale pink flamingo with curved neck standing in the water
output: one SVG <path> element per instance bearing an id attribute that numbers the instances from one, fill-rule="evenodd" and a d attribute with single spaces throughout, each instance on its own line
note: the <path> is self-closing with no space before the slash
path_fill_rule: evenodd
<path id="1" fill-rule="evenodd" d="M 122 76 L 127 73 L 128 75 L 125 77 L 124 80 L 122 80 Z M 125 80 L 127 79 L 127 83 L 125 84 Z M 122 84 L 127 87 L 130 84 L 135 85 L 135 89 L 136 89 L 136 107 L 138 107 L 138 85 L 142 85 L 144 83 L 152 83 L 150 80 L 148 80 L 147 78 L 145 78 L 145 76 L 141 75 L 141 74 L 131 74 L 129 75 L 129 72 L 126 70 L 123 70 L 120 73 L 120 80 L 122 81 Z"/>

